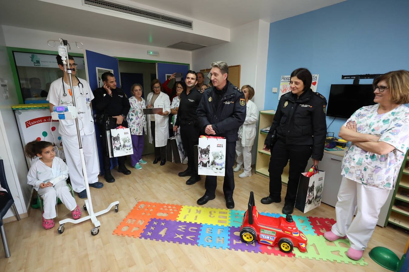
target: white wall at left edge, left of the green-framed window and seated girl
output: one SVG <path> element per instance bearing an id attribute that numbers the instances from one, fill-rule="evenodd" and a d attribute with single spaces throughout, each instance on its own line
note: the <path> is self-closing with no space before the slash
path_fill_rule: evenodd
<path id="1" fill-rule="evenodd" d="M 27 212 L 31 197 L 31 186 L 27 184 L 27 163 L 18 132 L 16 117 L 11 109 L 18 104 L 16 86 L 11 73 L 6 43 L 0 27 L 0 79 L 7 80 L 9 98 L 0 93 L 0 157 L 4 161 L 7 184 L 16 203 L 18 213 Z M 4 218 L 13 216 L 9 210 Z"/>

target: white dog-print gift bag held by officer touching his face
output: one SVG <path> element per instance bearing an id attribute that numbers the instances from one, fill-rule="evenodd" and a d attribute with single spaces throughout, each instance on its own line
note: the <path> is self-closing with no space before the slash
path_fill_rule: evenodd
<path id="1" fill-rule="evenodd" d="M 121 157 L 133 154 L 132 139 L 129 128 L 115 128 L 110 130 L 110 157 Z M 107 133 L 108 136 L 108 133 Z M 109 150 L 109 147 L 108 147 Z"/>

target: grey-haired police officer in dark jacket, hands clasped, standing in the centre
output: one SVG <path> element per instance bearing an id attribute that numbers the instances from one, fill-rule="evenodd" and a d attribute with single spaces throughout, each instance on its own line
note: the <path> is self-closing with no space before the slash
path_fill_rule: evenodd
<path id="1" fill-rule="evenodd" d="M 227 80 L 229 66 L 226 62 L 211 64 L 211 81 L 213 86 L 203 93 L 202 101 L 197 110 L 199 126 L 206 135 L 222 136 L 226 138 L 226 170 L 223 183 L 223 192 L 226 207 L 234 208 L 233 191 L 234 176 L 233 164 L 236 155 L 236 141 L 238 128 L 246 118 L 246 100 L 244 93 Z M 205 181 L 206 192 L 198 199 L 199 205 L 214 199 L 217 186 L 216 176 L 207 176 Z"/>

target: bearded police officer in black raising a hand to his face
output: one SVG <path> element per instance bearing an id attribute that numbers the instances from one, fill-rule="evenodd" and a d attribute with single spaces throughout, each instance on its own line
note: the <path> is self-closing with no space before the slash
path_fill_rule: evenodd
<path id="1" fill-rule="evenodd" d="M 106 182 L 114 182 L 115 179 L 111 174 L 111 159 L 108 156 L 108 149 L 106 146 L 106 130 L 116 128 L 119 125 L 128 127 L 126 124 L 126 115 L 130 109 L 128 97 L 124 93 L 124 90 L 117 88 L 117 82 L 115 76 L 106 72 L 101 75 L 103 81 L 103 87 L 94 90 L 94 100 L 92 100 L 92 106 L 96 109 L 97 114 L 103 115 L 103 124 L 99 125 L 99 131 L 101 133 L 101 142 L 103 147 L 103 164 L 105 169 Z M 118 172 L 130 175 L 130 170 L 125 167 L 126 156 L 118 158 Z"/>

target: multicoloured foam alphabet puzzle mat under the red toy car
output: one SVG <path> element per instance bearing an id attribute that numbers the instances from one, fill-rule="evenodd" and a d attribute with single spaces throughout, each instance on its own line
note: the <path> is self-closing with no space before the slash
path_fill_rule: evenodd
<path id="1" fill-rule="evenodd" d="M 297 227 L 308 239 L 307 252 L 300 252 L 294 247 L 292 252 L 284 253 L 279 250 L 278 245 L 265 245 L 258 241 L 251 244 L 243 243 L 240 239 L 240 226 L 244 213 L 242 210 L 140 201 L 113 234 L 288 258 L 368 265 L 364 259 L 353 261 L 345 255 L 350 246 L 348 239 L 330 242 L 322 236 L 324 232 L 331 230 L 335 223 L 334 219 L 293 215 Z M 260 214 L 270 217 L 281 216 L 270 212 Z"/>

